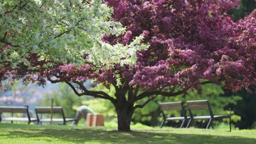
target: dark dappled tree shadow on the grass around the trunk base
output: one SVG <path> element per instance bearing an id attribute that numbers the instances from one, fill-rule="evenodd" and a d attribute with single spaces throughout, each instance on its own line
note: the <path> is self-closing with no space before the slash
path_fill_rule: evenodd
<path id="1" fill-rule="evenodd" d="M 4 134 L 4 132 L 6 132 Z M 0 139 L 27 139 L 49 143 L 256 143 L 256 139 L 239 136 L 173 134 L 133 131 L 129 133 L 86 129 L 5 129 Z"/>

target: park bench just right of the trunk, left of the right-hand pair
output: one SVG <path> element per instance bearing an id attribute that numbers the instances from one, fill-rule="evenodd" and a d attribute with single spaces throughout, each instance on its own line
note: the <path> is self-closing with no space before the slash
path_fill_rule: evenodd
<path id="1" fill-rule="evenodd" d="M 184 123 L 188 120 L 188 117 L 185 113 L 185 109 L 183 107 L 182 101 L 160 103 L 160 109 L 162 112 L 162 116 L 164 117 L 164 119 L 162 119 L 160 128 L 162 128 L 165 121 L 177 121 L 177 120 L 182 120 L 182 124 L 180 126 L 180 128 L 182 128 Z M 181 116 L 181 117 L 166 117 L 164 111 L 170 111 L 170 110 L 180 110 L 182 112 L 183 116 Z"/>

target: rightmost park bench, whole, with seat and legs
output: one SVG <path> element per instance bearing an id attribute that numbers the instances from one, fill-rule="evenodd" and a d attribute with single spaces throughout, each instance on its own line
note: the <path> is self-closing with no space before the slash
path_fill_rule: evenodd
<path id="1" fill-rule="evenodd" d="M 189 101 L 187 101 L 187 104 L 188 104 L 189 115 L 190 115 L 190 119 L 187 124 L 187 128 L 189 127 L 190 123 L 194 119 L 210 119 L 206 126 L 206 129 L 208 129 L 208 128 L 210 128 L 210 125 L 212 124 L 214 119 L 229 118 L 229 131 L 231 131 L 231 115 L 214 116 L 208 100 L 189 100 Z M 191 110 L 202 110 L 202 109 L 208 109 L 210 116 L 193 116 Z M 230 114 L 231 114 L 231 112 L 230 112 Z"/>

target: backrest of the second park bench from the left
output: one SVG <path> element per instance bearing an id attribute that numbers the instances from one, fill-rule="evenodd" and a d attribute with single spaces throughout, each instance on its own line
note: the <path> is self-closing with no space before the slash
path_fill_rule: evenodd
<path id="1" fill-rule="evenodd" d="M 36 115 L 38 119 L 39 119 L 38 113 L 50 114 L 52 111 L 53 113 L 60 113 L 63 119 L 65 120 L 65 115 L 61 106 L 53 106 L 53 109 L 51 109 L 51 106 L 38 106 L 38 107 L 35 107 L 34 109 L 36 110 Z"/>

